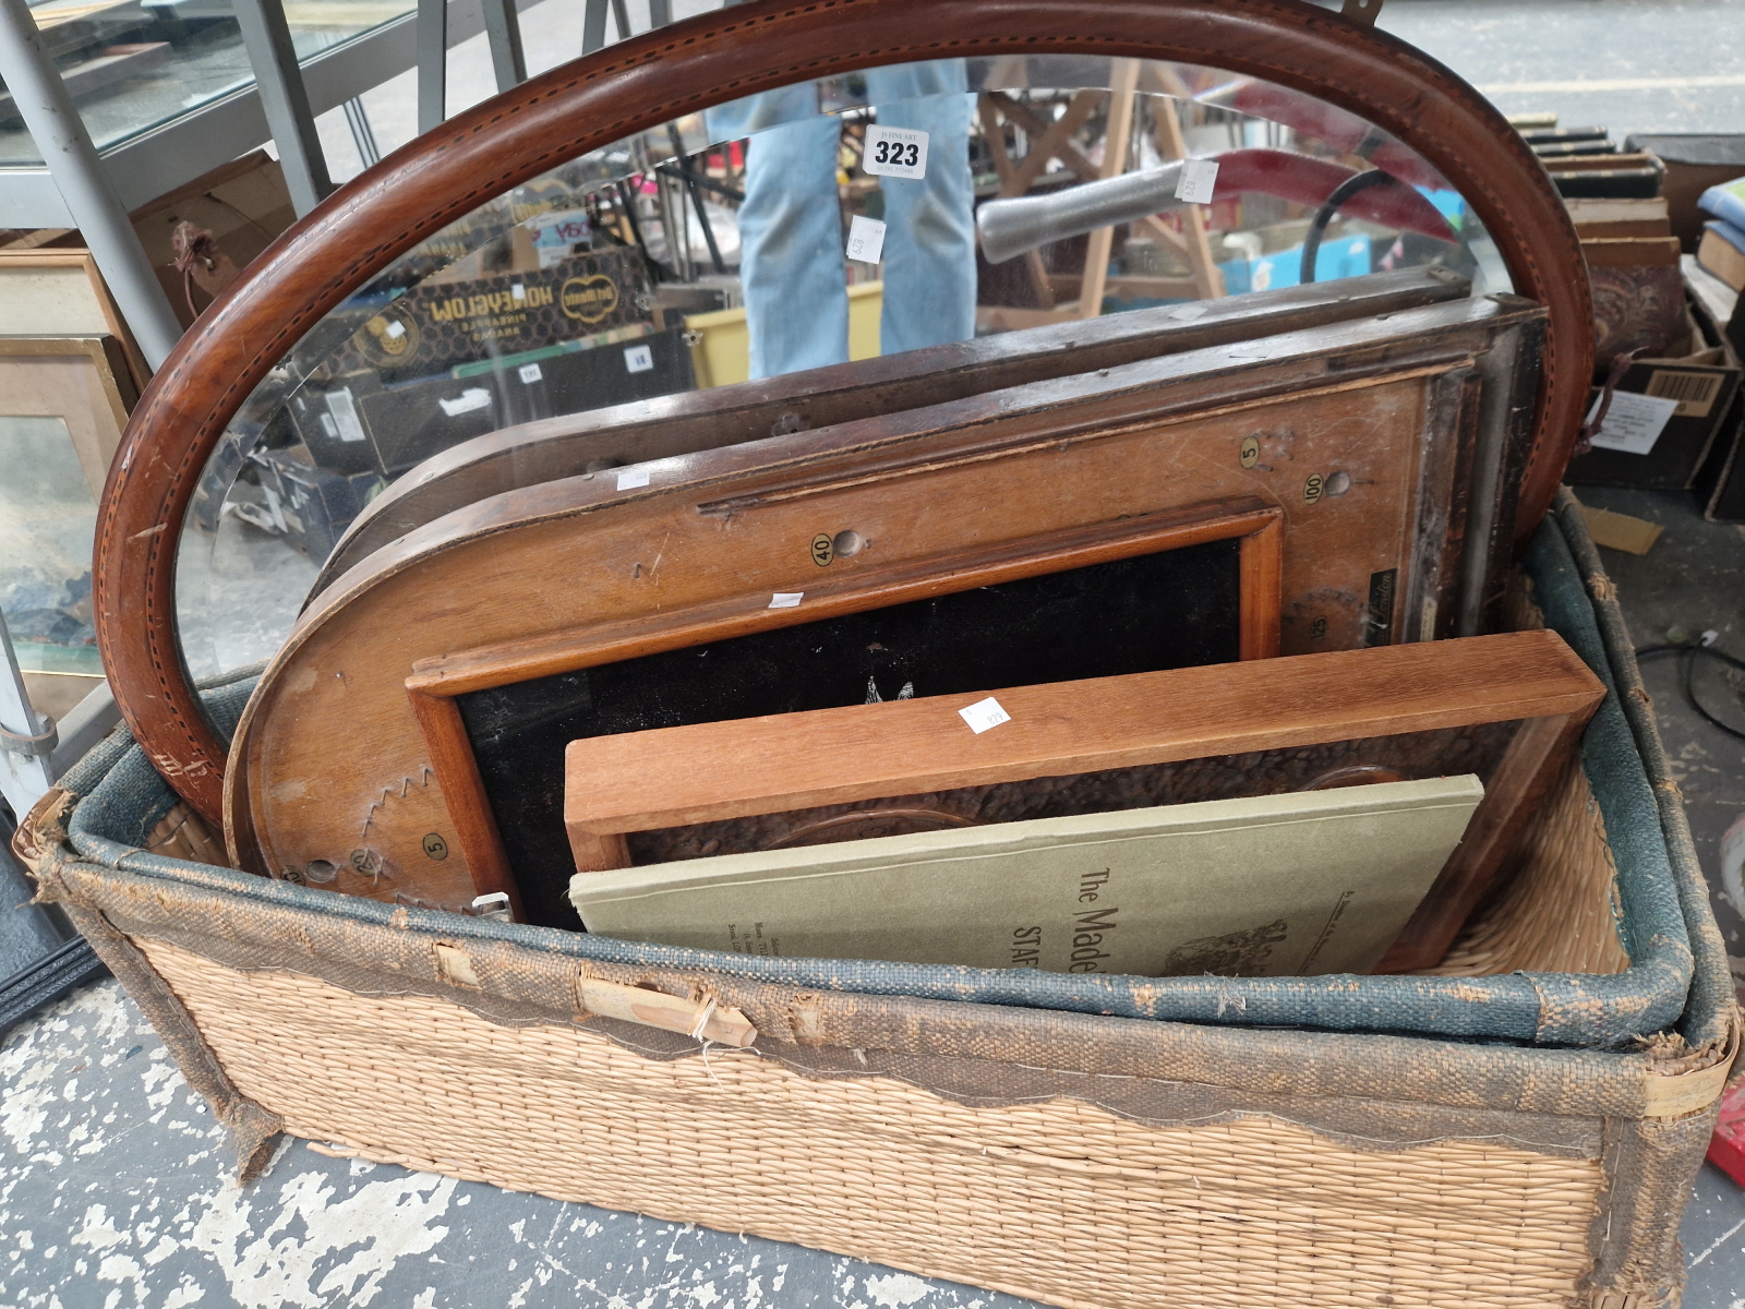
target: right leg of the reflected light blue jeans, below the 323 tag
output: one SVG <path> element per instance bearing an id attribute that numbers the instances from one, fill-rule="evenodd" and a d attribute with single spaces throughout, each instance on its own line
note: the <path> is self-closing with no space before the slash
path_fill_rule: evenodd
<path id="1" fill-rule="evenodd" d="M 961 59 L 867 72 L 885 127 L 927 133 L 927 176 L 879 178 L 885 304 L 879 351 L 897 354 L 975 335 L 975 199 L 970 96 Z"/>

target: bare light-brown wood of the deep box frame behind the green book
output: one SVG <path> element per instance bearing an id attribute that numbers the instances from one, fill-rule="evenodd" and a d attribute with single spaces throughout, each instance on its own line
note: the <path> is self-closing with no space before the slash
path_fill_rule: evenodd
<path id="1" fill-rule="evenodd" d="M 660 728 L 572 742 L 564 820 L 588 873 L 630 867 L 626 834 L 658 827 L 1516 724 L 1468 838 L 1377 969 L 1403 972 L 1447 953 L 1604 696 L 1564 639 L 1539 630 L 1010 688 L 998 691 L 1010 721 L 984 733 L 958 717 L 972 695 Z M 1249 794 L 1276 794 L 1256 785 Z"/>

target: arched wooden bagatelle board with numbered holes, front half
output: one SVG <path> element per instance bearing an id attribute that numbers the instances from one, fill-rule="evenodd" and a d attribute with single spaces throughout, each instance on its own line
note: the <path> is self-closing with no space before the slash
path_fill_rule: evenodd
<path id="1" fill-rule="evenodd" d="M 1506 417 L 1539 323 L 1462 300 L 457 510 L 328 586 L 269 667 L 225 777 L 232 857 L 325 860 L 325 885 L 386 901 L 513 895 L 457 696 L 1077 567 L 1152 531 L 1169 548 L 1256 508 L 1281 513 L 1284 653 L 1452 634 L 1504 565 L 1482 527 L 1513 518 L 1525 422 Z"/>

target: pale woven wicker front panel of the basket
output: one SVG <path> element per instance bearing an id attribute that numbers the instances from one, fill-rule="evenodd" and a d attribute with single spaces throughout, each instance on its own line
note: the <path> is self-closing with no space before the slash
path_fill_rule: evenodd
<path id="1" fill-rule="evenodd" d="M 140 944 L 286 1131 L 511 1190 L 1098 1309 L 1564 1306 L 1591 1262 L 1597 1159 L 1363 1150 L 1274 1117 L 1153 1126 L 1075 1100 L 970 1108 Z"/>

